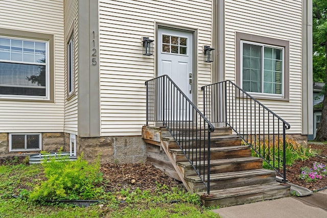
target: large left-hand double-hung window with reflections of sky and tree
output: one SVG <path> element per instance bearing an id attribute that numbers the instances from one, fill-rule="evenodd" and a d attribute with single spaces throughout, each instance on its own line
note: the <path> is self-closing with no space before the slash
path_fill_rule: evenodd
<path id="1" fill-rule="evenodd" d="M 0 96 L 49 100 L 49 41 L 0 36 Z"/>

